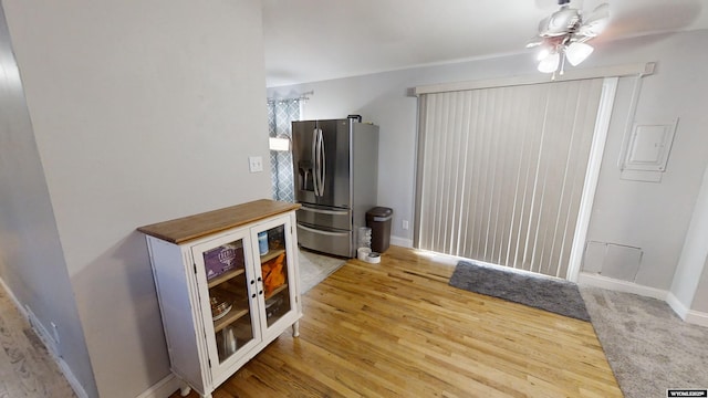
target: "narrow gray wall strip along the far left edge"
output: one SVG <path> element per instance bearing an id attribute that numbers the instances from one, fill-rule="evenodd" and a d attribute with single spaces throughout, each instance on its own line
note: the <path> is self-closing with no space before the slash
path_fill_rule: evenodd
<path id="1" fill-rule="evenodd" d="M 24 91 L 0 7 L 0 279 L 53 335 L 58 355 L 96 395 Z"/>

